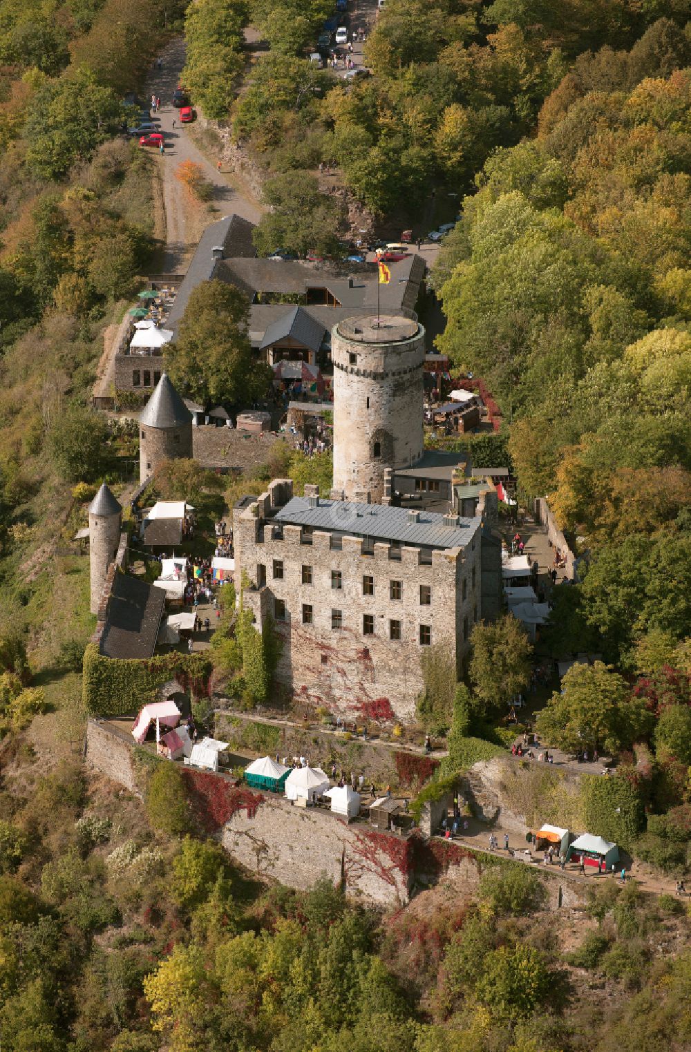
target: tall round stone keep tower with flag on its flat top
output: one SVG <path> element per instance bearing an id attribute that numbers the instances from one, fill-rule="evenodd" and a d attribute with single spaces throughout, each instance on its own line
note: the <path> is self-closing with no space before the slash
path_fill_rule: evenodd
<path id="1" fill-rule="evenodd" d="M 387 468 L 423 454 L 425 329 L 400 316 L 350 318 L 331 330 L 333 488 L 384 499 Z"/>

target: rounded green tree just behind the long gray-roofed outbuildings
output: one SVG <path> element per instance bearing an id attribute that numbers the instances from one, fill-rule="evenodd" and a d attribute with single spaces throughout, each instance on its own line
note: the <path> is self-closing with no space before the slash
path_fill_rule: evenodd
<path id="1" fill-rule="evenodd" d="M 253 232 L 262 256 L 277 249 L 306 256 L 314 251 L 333 255 L 339 247 L 343 208 L 339 199 L 327 197 L 308 171 L 287 171 L 269 179 L 264 200 L 270 211 L 262 216 Z"/>

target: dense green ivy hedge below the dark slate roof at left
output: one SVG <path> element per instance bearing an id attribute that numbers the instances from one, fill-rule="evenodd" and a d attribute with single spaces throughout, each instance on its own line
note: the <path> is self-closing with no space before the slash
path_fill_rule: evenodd
<path id="1" fill-rule="evenodd" d="M 95 643 L 84 651 L 82 694 L 90 715 L 121 716 L 137 712 L 169 680 L 177 680 L 194 696 L 206 696 L 212 665 L 205 653 L 177 650 L 154 658 L 115 660 L 98 652 Z"/>

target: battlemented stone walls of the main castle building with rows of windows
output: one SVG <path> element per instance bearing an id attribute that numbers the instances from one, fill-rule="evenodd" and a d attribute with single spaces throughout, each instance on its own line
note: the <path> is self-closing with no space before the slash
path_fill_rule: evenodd
<path id="1" fill-rule="evenodd" d="M 260 498 L 255 506 L 259 517 L 252 507 L 237 517 L 236 560 L 240 574 L 255 584 L 266 581 L 244 598 L 258 626 L 266 613 L 276 615 L 276 600 L 285 604 L 285 619 L 275 619 L 283 645 L 279 682 L 303 701 L 350 717 L 366 716 L 368 705 L 386 700 L 397 719 L 412 719 L 423 687 L 421 626 L 429 626 L 431 643 L 443 643 L 460 664 L 481 616 L 480 520 L 465 549 L 436 550 L 430 563 L 421 563 L 418 548 L 400 549 L 398 560 L 378 543 L 367 554 L 360 538 L 343 537 L 342 547 L 333 548 L 322 531 L 304 544 L 299 526 L 284 526 L 281 539 L 261 521 L 267 503 Z M 311 568 L 311 583 L 303 582 L 303 567 Z M 333 587 L 332 571 L 341 573 L 341 588 Z M 364 594 L 365 576 L 373 578 L 373 595 Z M 391 598 L 391 582 L 400 582 L 401 599 Z M 431 605 L 421 604 L 421 585 L 431 588 Z M 305 607 L 311 607 L 311 624 L 304 622 Z M 332 627 L 334 610 L 341 611 L 340 628 Z M 364 634 L 365 614 L 374 618 L 373 634 Z M 392 621 L 400 623 L 400 640 L 390 638 Z"/>

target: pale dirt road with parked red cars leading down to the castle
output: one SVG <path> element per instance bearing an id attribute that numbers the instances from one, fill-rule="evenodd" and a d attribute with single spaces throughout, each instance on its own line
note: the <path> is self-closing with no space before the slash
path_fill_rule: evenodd
<path id="1" fill-rule="evenodd" d="M 194 161 L 201 165 L 206 179 L 214 186 L 211 204 L 219 209 L 208 214 L 208 222 L 215 218 L 237 213 L 245 219 L 258 222 L 261 211 L 233 186 L 227 176 L 217 171 L 204 155 L 190 141 L 185 125 L 180 124 L 180 114 L 170 105 L 170 99 L 185 62 L 185 47 L 182 39 L 171 41 L 161 53 L 162 68 L 156 66 L 148 78 L 145 100 L 151 95 L 161 99 L 161 109 L 156 115 L 165 137 L 163 159 L 163 202 L 165 208 L 166 250 L 163 262 L 164 274 L 181 272 L 194 249 L 199 235 L 199 209 L 190 199 L 189 191 L 176 179 L 175 171 L 183 161 Z M 172 122 L 175 121 L 175 128 Z M 192 222 L 194 217 L 194 222 Z"/>

